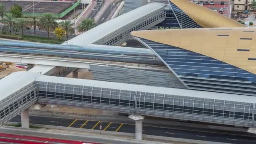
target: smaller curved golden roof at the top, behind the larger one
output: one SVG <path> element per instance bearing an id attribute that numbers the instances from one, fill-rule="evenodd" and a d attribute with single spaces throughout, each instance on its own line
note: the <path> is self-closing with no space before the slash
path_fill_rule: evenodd
<path id="1" fill-rule="evenodd" d="M 216 13 L 209 8 L 191 3 L 189 0 L 170 0 L 184 13 L 192 18 L 201 27 L 245 27 L 239 22 L 229 19 L 220 13 Z"/>

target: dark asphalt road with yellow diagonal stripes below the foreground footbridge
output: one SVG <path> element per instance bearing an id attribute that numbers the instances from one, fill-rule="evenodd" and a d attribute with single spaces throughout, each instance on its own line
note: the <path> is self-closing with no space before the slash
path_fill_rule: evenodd
<path id="1" fill-rule="evenodd" d="M 41 117 L 41 116 L 29 116 L 30 123 L 41 125 L 56 125 L 72 128 L 87 128 L 99 130 L 99 125 L 102 123 L 102 130 L 105 131 L 117 131 L 125 133 L 135 133 L 135 125 L 131 123 L 116 123 L 98 120 L 79 120 L 79 119 L 67 119 L 59 117 Z M 11 122 L 20 123 L 20 115 L 14 117 Z M 171 128 L 165 125 L 143 125 L 143 133 L 155 136 L 167 136 L 184 139 L 195 139 L 203 141 L 216 141 L 226 142 L 232 144 L 256 144 L 256 135 L 241 135 L 239 133 L 220 133 L 219 131 L 202 131 L 201 129 L 179 129 Z"/>

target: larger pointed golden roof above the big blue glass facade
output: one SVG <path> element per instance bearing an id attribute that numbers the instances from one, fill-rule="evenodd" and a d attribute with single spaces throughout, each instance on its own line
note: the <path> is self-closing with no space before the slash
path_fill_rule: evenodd
<path id="1" fill-rule="evenodd" d="M 200 53 L 256 74 L 256 28 L 146 30 L 131 35 Z"/>

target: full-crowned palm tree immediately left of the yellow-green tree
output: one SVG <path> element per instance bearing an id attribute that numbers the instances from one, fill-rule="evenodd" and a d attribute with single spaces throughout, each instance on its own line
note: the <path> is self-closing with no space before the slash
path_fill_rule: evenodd
<path id="1" fill-rule="evenodd" d="M 48 38 L 49 33 L 58 27 L 56 20 L 57 17 L 53 16 L 52 13 L 45 13 L 39 20 L 39 27 L 47 31 Z"/>

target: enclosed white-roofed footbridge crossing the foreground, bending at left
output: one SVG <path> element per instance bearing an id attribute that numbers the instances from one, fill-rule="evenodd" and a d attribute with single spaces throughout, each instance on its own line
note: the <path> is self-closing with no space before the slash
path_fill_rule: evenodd
<path id="1" fill-rule="evenodd" d="M 255 126 L 255 96 L 14 72 L 0 80 L 0 124 L 35 103 Z M 232 100 L 232 101 L 230 101 Z"/>

